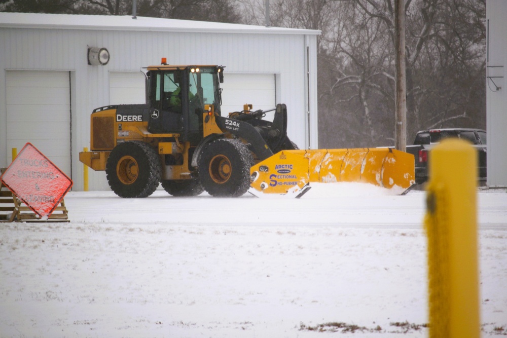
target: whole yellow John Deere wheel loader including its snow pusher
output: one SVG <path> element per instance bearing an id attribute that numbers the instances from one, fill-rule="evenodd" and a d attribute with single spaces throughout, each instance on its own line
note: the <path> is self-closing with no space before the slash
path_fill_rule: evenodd
<path id="1" fill-rule="evenodd" d="M 222 197 L 241 196 L 249 188 L 301 196 L 311 181 L 403 189 L 412 184 L 413 157 L 393 149 L 382 148 L 383 159 L 376 149 L 345 149 L 344 156 L 337 155 L 344 149 L 298 150 L 287 137 L 284 104 L 272 109 L 273 121 L 263 120 L 267 111 L 252 111 L 251 105 L 221 116 L 223 66 L 169 65 L 162 59 L 143 69 L 147 103 L 94 109 L 90 151 L 79 154 L 90 168 L 105 170 L 120 197 L 148 197 L 159 183 L 173 196 L 206 190 Z M 357 166 L 357 175 L 351 174 Z"/>

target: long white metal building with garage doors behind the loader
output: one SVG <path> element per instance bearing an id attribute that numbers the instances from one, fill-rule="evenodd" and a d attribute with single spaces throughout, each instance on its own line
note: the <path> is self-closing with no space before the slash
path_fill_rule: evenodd
<path id="1" fill-rule="evenodd" d="M 316 30 L 130 16 L 0 13 L 0 167 L 31 142 L 83 189 L 79 152 L 90 146 L 90 114 L 100 106 L 144 103 L 140 68 L 226 66 L 223 111 L 285 103 L 288 134 L 317 147 Z M 105 48 L 105 65 L 88 49 Z M 90 190 L 108 190 L 90 170 Z"/>

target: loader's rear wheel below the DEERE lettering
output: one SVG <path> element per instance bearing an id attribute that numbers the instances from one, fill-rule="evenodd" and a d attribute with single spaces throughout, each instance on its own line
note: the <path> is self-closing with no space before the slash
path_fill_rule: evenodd
<path id="1" fill-rule="evenodd" d="M 157 189 L 162 167 L 152 146 L 130 141 L 118 144 L 107 159 L 107 182 L 123 198 L 148 197 Z"/>

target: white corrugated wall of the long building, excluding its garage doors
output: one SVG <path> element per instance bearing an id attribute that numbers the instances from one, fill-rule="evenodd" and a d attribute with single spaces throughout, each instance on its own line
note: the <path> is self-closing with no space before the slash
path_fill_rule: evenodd
<path id="1" fill-rule="evenodd" d="M 289 137 L 301 146 L 317 147 L 315 34 L 0 27 L 0 46 L 0 69 L 3 70 L 0 102 L 6 102 L 6 70 L 70 71 L 74 190 L 83 189 L 83 168 L 78 153 L 83 147 L 89 147 L 90 113 L 96 107 L 110 104 L 109 72 L 138 71 L 141 66 L 160 63 L 161 57 L 167 57 L 171 64 L 220 64 L 226 66 L 226 72 L 276 74 L 277 101 L 287 104 L 290 115 Z M 88 65 L 88 46 L 107 48 L 110 62 L 105 66 Z M 308 93 L 312 95 L 310 99 Z M 252 103 L 255 104 L 255 98 Z M 2 167 L 9 164 L 6 154 L 10 152 L 5 142 L 5 128 L 6 107 L 0 104 Z M 311 129 L 310 136 L 308 129 Z M 91 170 L 90 190 L 101 189 L 108 189 L 105 174 Z"/>

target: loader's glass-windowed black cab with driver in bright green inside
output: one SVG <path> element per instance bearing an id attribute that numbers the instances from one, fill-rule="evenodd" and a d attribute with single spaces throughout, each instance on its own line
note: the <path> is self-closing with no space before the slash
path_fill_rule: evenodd
<path id="1" fill-rule="evenodd" d="M 148 103 L 151 133 L 178 133 L 180 141 L 196 145 L 203 137 L 205 104 L 220 114 L 223 76 L 219 66 L 148 67 Z"/>

